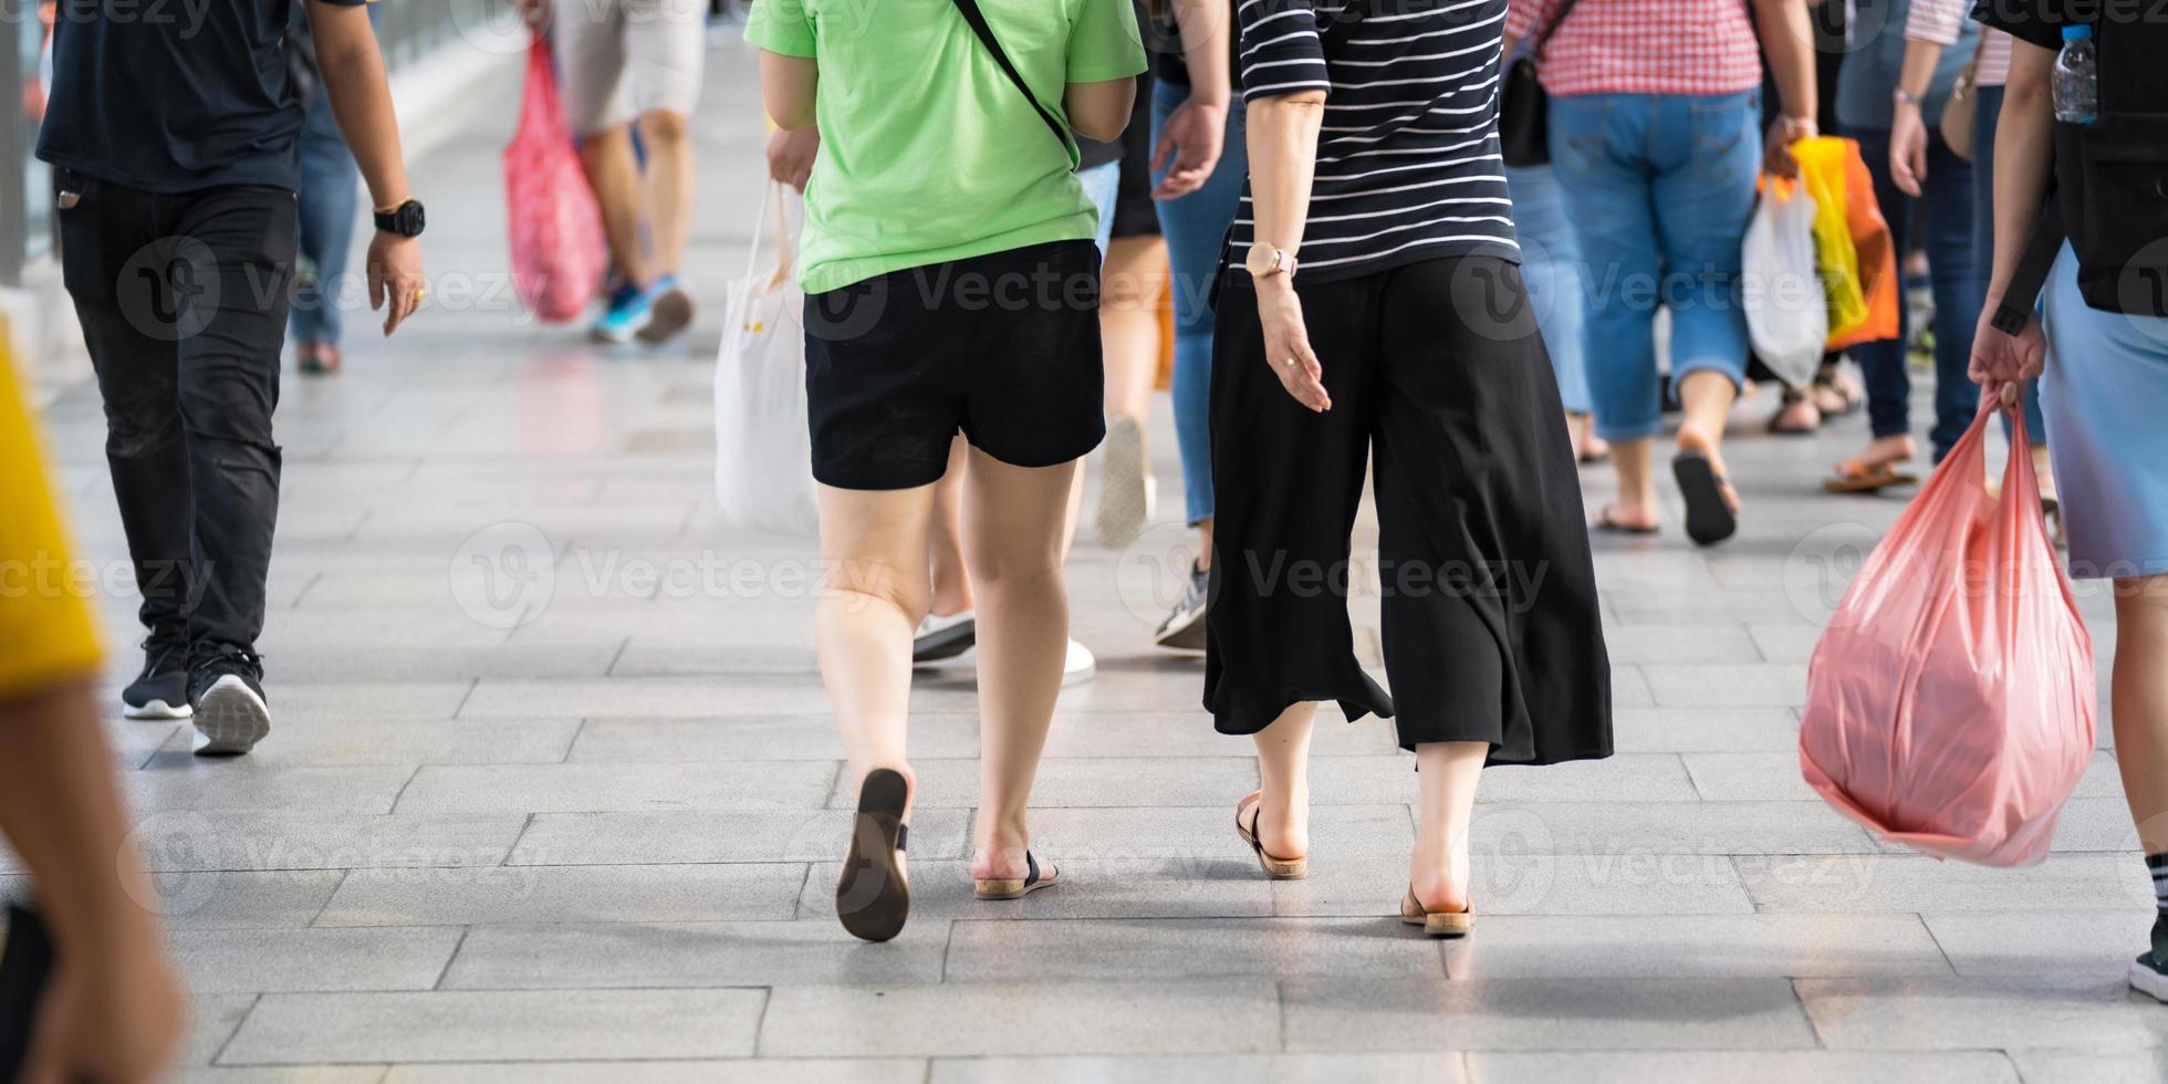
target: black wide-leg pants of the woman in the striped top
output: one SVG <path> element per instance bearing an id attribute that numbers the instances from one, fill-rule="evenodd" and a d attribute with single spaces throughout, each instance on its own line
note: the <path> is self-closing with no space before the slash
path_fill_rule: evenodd
<path id="1" fill-rule="evenodd" d="M 1492 763 L 1611 754 L 1611 663 L 1565 410 L 1520 267 L 1494 256 L 1296 282 L 1333 408 L 1264 356 L 1257 295 L 1221 284 L 1212 351 L 1205 709 L 1249 735 L 1290 705 L 1394 718 L 1403 748 Z M 1375 468 L 1377 568 L 1351 568 Z M 1355 661 L 1348 579 L 1383 594 L 1392 696 Z"/>

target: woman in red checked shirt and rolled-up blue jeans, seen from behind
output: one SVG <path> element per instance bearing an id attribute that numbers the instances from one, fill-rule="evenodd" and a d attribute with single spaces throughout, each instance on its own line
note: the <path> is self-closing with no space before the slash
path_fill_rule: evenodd
<path id="1" fill-rule="evenodd" d="M 1758 26 L 1758 46 L 1756 46 Z M 1791 176 L 1791 143 L 1817 132 L 1815 56 L 1804 0 L 1513 0 L 1511 41 L 1541 41 L 1550 160 L 1574 195 L 1589 267 L 1596 436 L 1611 444 L 1619 496 L 1596 527 L 1659 525 L 1654 438 L 1663 429 L 1654 317 L 1672 310 L 1672 390 L 1685 408 L 1672 475 L 1687 538 L 1739 529 L 1724 429 L 1747 369 L 1739 245 L 1763 169 Z M 1760 126 L 1760 54 L 1784 111 Z"/>

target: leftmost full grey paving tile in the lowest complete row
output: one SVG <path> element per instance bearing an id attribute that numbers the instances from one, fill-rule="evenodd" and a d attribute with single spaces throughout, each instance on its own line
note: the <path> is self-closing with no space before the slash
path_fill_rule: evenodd
<path id="1" fill-rule="evenodd" d="M 273 993 L 219 1064 L 744 1058 L 761 991 Z"/>

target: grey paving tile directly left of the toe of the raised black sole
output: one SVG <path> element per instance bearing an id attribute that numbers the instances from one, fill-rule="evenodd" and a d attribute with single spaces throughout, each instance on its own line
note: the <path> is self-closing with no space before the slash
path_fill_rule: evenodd
<path id="1" fill-rule="evenodd" d="M 789 919 L 800 863 L 356 869 L 317 926 Z"/>

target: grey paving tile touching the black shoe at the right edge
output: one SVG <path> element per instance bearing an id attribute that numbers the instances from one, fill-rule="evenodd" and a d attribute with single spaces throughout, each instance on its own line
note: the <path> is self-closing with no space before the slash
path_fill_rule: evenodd
<path id="1" fill-rule="evenodd" d="M 2118 976 L 2153 930 L 2153 911 L 2135 906 L 1923 917 L 1960 976 Z"/>

